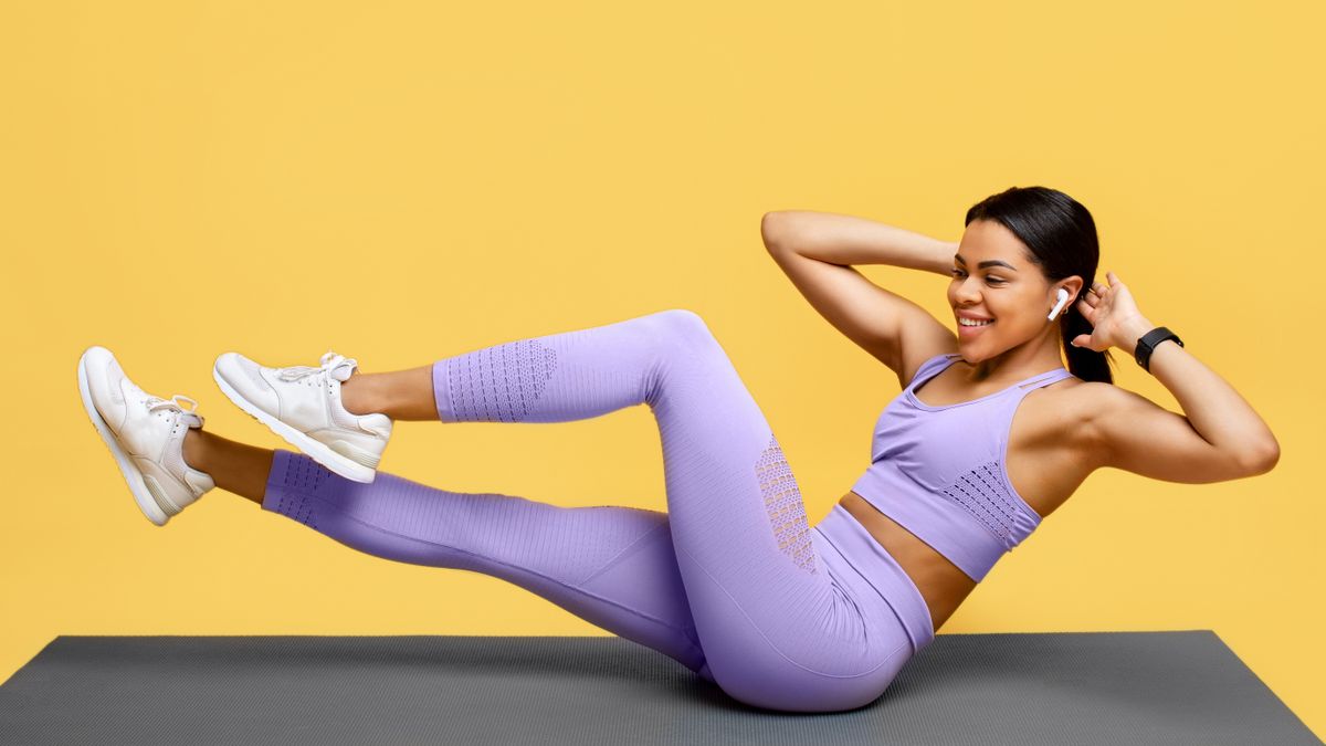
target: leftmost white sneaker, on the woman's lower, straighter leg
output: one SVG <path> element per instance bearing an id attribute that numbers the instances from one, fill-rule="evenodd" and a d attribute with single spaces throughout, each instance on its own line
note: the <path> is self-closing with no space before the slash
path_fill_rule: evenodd
<path id="1" fill-rule="evenodd" d="M 149 394 L 125 376 L 103 346 L 90 346 L 78 358 L 78 393 L 149 520 L 166 526 L 216 486 L 208 474 L 184 463 L 184 433 L 203 426 L 196 401 Z M 180 400 L 192 409 L 182 408 Z"/>

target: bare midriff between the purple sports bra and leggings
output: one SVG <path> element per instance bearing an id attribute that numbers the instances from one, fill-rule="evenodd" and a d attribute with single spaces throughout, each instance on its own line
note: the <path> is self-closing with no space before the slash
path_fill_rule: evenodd
<path id="1" fill-rule="evenodd" d="M 855 516 L 912 579 L 930 607 L 930 619 L 936 631 L 976 588 L 976 581 L 956 564 L 879 512 L 857 492 L 849 491 L 838 504 Z"/>

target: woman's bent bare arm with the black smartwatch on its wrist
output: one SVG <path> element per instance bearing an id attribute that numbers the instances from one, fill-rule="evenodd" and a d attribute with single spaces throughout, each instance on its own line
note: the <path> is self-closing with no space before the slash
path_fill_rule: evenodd
<path id="1" fill-rule="evenodd" d="M 1136 312 L 1131 295 L 1113 272 L 1109 288 L 1095 283 L 1089 303 L 1078 303 L 1091 335 L 1074 340 L 1098 349 L 1110 344 L 1131 357 L 1155 324 Z M 1099 338 L 1097 338 L 1099 337 Z M 1170 482 L 1204 483 L 1270 471 L 1280 443 L 1266 422 L 1224 378 L 1174 341 L 1162 342 L 1148 361 L 1151 374 L 1179 401 L 1187 417 L 1132 392 L 1109 386 L 1089 426 L 1105 465 Z"/>

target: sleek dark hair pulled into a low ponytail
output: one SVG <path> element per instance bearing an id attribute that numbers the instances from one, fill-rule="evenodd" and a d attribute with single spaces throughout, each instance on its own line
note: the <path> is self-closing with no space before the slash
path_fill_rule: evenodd
<path id="1" fill-rule="evenodd" d="M 1095 235 L 1091 212 L 1062 191 L 1046 187 L 1010 187 L 987 196 L 967 211 L 967 222 L 994 220 L 1013 232 L 1030 250 L 1030 259 L 1055 283 L 1078 275 L 1082 292 L 1063 307 L 1059 324 L 1063 353 L 1069 370 L 1083 381 L 1114 382 L 1109 350 L 1095 352 L 1070 342 L 1078 335 L 1090 335 L 1091 324 L 1075 308 L 1095 280 L 1101 261 L 1101 242 Z"/>

